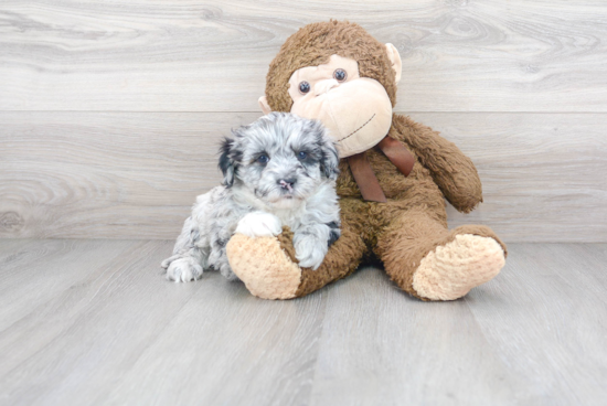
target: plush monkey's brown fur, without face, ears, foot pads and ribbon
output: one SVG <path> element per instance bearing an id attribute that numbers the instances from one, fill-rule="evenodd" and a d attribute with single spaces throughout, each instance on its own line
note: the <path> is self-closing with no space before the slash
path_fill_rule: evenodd
<path id="1" fill-rule="evenodd" d="M 358 24 L 330 21 L 300 29 L 271 62 L 266 81 L 266 97 L 271 109 L 289 111 L 292 101 L 288 81 L 292 73 L 305 66 L 327 63 L 332 54 L 356 60 L 361 77 L 380 82 L 395 105 L 395 73 L 385 46 Z M 402 141 L 415 156 L 413 171 L 405 178 L 381 151 L 369 150 L 369 160 L 387 203 L 365 202 L 347 161 L 341 161 L 338 194 L 342 235 L 330 247 L 319 269 L 301 269 L 295 296 L 307 295 L 343 278 L 362 260 L 376 257 L 402 289 L 427 300 L 414 289 L 414 274 L 423 258 L 452 242 L 457 235 L 493 238 L 505 255 L 505 245 L 489 227 L 447 228 L 445 199 L 464 213 L 482 201 L 480 179 L 471 160 L 454 143 L 405 116 L 393 116 L 388 135 Z M 278 239 L 287 256 L 296 263 L 291 237 L 292 234 L 285 229 Z M 264 257 L 253 260 L 263 261 Z"/>

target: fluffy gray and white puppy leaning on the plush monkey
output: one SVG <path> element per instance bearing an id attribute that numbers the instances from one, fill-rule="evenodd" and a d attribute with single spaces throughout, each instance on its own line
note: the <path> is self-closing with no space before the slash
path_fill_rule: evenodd
<path id="1" fill-rule="evenodd" d="M 237 279 L 225 254 L 234 233 L 276 236 L 294 232 L 301 267 L 317 269 L 340 236 L 336 179 L 338 151 L 319 121 L 271 113 L 232 131 L 221 148 L 223 185 L 196 197 L 167 278 L 195 280 L 204 269 Z"/>

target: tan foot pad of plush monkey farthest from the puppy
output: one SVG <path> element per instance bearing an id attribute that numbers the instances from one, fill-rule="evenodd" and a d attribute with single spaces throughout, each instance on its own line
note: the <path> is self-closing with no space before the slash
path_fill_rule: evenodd
<path id="1" fill-rule="evenodd" d="M 413 275 L 413 289 L 429 300 L 455 300 L 491 280 L 505 264 L 493 238 L 460 234 L 426 255 Z"/>

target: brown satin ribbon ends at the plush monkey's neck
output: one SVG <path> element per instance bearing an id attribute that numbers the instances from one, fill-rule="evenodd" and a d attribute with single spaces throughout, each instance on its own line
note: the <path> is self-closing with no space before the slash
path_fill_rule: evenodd
<path id="1" fill-rule="evenodd" d="M 415 163 L 415 157 L 413 157 L 413 153 L 411 153 L 405 146 L 394 138 L 385 136 L 385 138 L 377 143 L 377 147 L 387 157 L 387 159 L 394 163 L 401 173 L 405 177 L 411 173 L 411 170 Z M 361 190 L 362 197 L 365 201 L 381 203 L 387 202 L 385 194 L 380 186 L 380 182 L 377 182 L 377 178 L 373 172 L 373 168 L 371 168 L 371 163 L 369 163 L 366 152 L 361 152 L 349 157 L 348 163 L 350 164 L 352 175 Z"/>

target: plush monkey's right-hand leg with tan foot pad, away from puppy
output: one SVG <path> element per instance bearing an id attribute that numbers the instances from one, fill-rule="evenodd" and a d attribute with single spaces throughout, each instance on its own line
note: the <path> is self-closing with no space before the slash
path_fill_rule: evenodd
<path id="1" fill-rule="evenodd" d="M 392 220 L 375 253 L 407 293 L 422 300 L 455 300 L 498 275 L 507 249 L 489 227 L 449 231 L 424 210 L 412 209 Z"/>

